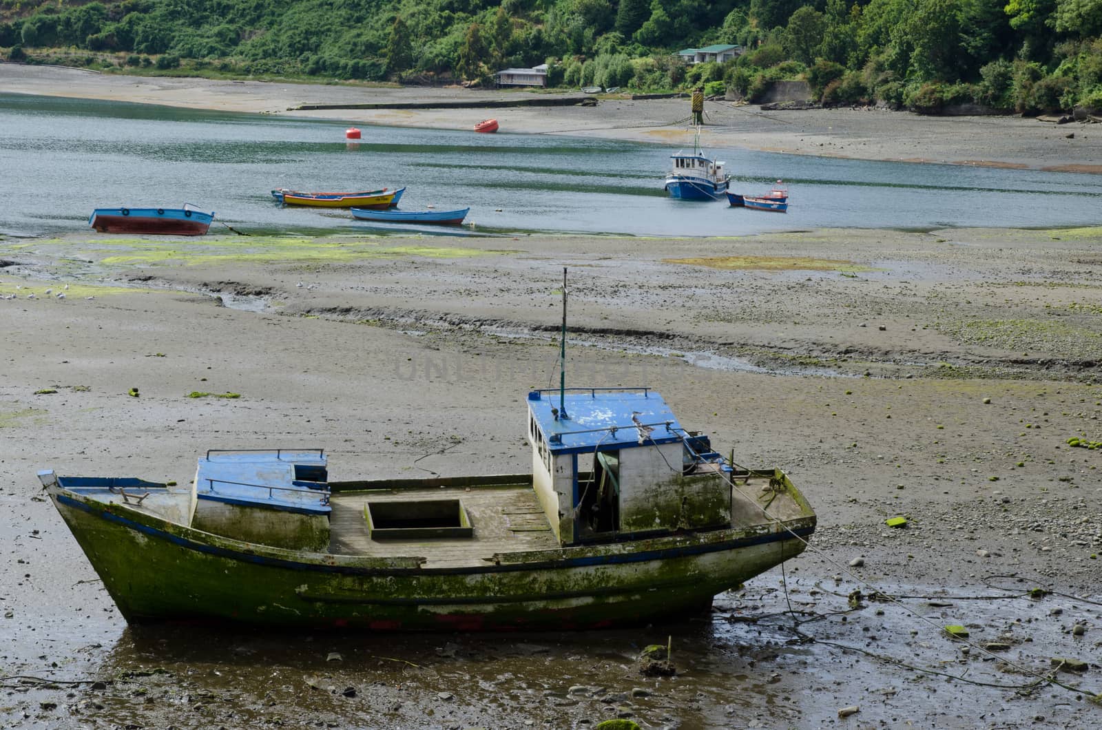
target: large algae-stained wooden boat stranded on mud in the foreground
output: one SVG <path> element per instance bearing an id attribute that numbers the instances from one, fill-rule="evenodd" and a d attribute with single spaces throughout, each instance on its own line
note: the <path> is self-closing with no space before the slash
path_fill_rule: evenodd
<path id="1" fill-rule="evenodd" d="M 525 422 L 527 474 L 329 481 L 325 452 L 301 449 L 208 451 L 186 487 L 39 479 L 131 622 L 474 631 L 683 619 L 814 532 L 784 471 L 724 459 L 647 388 L 566 388 L 562 374 L 558 389 L 528 394 Z"/>

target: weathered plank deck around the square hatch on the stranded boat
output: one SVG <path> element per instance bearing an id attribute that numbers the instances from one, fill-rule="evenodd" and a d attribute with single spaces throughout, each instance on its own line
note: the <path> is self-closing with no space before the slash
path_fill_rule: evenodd
<path id="1" fill-rule="evenodd" d="M 460 500 L 474 535 L 467 538 L 370 539 L 364 508 L 370 502 Z M 334 493 L 329 552 L 423 557 L 424 567 L 484 566 L 495 552 L 549 550 L 559 540 L 531 486 L 456 486 Z"/>

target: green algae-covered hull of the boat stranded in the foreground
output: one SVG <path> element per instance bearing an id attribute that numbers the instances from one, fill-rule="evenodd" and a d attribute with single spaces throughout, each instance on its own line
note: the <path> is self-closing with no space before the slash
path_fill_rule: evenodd
<path id="1" fill-rule="evenodd" d="M 779 473 L 779 472 L 778 472 Z M 782 474 L 781 474 L 782 476 Z M 790 485 L 787 477 L 784 481 Z M 46 487 L 128 621 L 361 630 L 555 630 L 684 615 L 803 550 L 815 517 L 795 489 L 784 524 L 425 565 L 272 548 L 141 506 Z M 791 532 L 789 532 L 791 530 Z"/>

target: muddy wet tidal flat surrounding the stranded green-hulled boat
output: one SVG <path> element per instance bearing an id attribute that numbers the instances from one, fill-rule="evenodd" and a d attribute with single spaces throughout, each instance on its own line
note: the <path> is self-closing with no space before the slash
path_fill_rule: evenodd
<path id="1" fill-rule="evenodd" d="M 18 297 L 0 300 L 0 724 L 1098 724 L 1102 451 L 1067 440 L 1102 440 L 1102 229 L 87 234 L 3 240 L 0 259 L 0 296 Z M 128 629 L 36 486 L 39 469 L 186 484 L 209 448 L 324 447 L 336 480 L 526 471 L 523 397 L 555 378 L 562 266 L 571 383 L 659 389 L 818 511 L 813 549 L 711 619 L 506 637 Z M 639 648 L 670 636 L 679 675 L 638 675 Z M 1090 666 L 1057 675 L 1071 689 L 1022 689 L 1056 657 Z"/>

